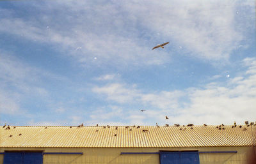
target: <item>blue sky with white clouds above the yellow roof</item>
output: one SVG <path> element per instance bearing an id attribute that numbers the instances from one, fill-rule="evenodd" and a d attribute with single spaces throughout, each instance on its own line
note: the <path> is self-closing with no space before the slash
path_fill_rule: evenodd
<path id="1" fill-rule="evenodd" d="M 0 124 L 254 122 L 255 20 L 252 0 L 0 1 Z"/>

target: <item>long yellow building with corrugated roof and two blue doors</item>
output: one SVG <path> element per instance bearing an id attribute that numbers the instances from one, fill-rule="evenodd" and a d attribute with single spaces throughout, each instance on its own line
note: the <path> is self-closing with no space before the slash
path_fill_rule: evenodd
<path id="1" fill-rule="evenodd" d="M 10 126 L 0 128 L 0 164 L 252 164 L 255 134 L 255 125 Z"/>

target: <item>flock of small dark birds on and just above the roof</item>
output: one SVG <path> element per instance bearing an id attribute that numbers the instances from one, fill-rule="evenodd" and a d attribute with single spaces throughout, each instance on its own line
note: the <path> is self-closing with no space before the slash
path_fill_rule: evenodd
<path id="1" fill-rule="evenodd" d="M 143 111 L 146 111 L 146 110 L 143 110 Z M 141 111 L 141 112 L 143 112 L 143 111 Z M 166 119 L 169 119 L 169 118 L 166 116 Z M 248 121 L 245 121 L 244 123 L 245 123 L 246 127 L 248 127 L 248 126 L 256 126 L 256 121 L 255 121 L 255 123 L 252 122 L 252 123 L 250 123 L 250 124 L 249 124 Z M 73 127 L 82 128 L 83 126 L 84 126 L 84 124 L 82 123 L 82 124 L 79 124 L 78 126 L 70 126 L 70 128 L 73 128 Z M 98 126 L 99 126 L 99 124 L 96 124 L 96 127 L 98 127 Z M 174 124 L 174 126 L 175 126 L 175 127 L 179 127 L 179 130 L 185 131 L 186 128 L 191 128 L 191 130 L 193 130 L 194 124 L 188 124 L 187 126 L 185 126 L 185 125 L 182 125 L 182 126 L 181 126 L 180 124 Z M 204 127 L 206 127 L 206 126 L 207 126 L 207 124 L 204 124 Z M 157 123 L 156 123 L 156 127 L 157 127 L 157 128 L 160 128 L 160 126 L 159 126 Z M 165 124 L 164 127 L 169 127 L 169 124 Z M 236 127 L 243 128 L 242 125 L 239 125 L 239 126 L 238 126 L 238 125 L 236 124 L 236 121 L 235 121 L 235 122 L 234 122 L 234 125 L 232 125 L 231 128 L 236 128 Z M 243 128 L 243 131 L 246 131 L 246 130 L 247 130 L 246 127 Z M 4 124 L 3 128 L 5 128 L 5 130 L 11 130 L 11 126 L 10 126 L 10 125 L 6 126 L 6 124 Z M 13 126 L 13 129 L 15 129 L 15 128 L 16 128 L 16 126 Z M 109 125 L 107 125 L 107 126 L 102 126 L 102 128 L 106 129 L 106 128 L 110 128 L 110 126 L 109 126 Z M 136 126 L 136 125 L 133 125 L 133 126 L 125 126 L 125 129 L 129 129 L 130 131 L 132 131 L 132 128 L 139 129 L 139 128 L 141 128 L 141 126 Z M 220 125 L 216 126 L 216 128 L 218 128 L 219 130 L 225 130 L 225 125 L 224 125 L 224 124 L 220 124 Z M 47 126 L 45 126 L 45 129 L 47 129 Z M 115 127 L 115 130 L 118 130 L 118 126 Z M 96 130 L 96 132 L 98 132 L 98 131 L 99 131 L 99 130 Z M 143 132 L 147 132 L 148 130 L 143 129 L 142 131 L 143 131 Z M 19 133 L 19 136 L 20 136 L 20 135 L 22 135 L 22 134 Z M 114 136 L 116 137 L 117 134 L 115 133 Z M 13 135 L 10 135 L 9 137 L 13 137 Z"/>

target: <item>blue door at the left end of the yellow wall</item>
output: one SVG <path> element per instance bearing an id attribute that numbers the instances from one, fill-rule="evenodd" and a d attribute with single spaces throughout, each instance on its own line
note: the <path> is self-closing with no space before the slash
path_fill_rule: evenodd
<path id="1" fill-rule="evenodd" d="M 42 164 L 42 153 L 4 153 L 3 164 Z"/>

